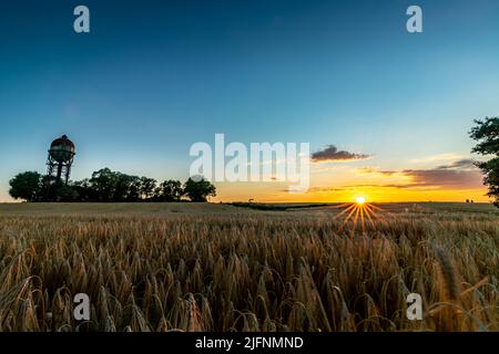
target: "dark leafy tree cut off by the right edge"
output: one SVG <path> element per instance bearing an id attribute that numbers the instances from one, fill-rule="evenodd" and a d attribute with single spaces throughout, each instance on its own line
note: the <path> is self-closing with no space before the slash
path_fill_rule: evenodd
<path id="1" fill-rule="evenodd" d="M 495 199 L 493 205 L 499 208 L 499 117 L 475 119 L 475 123 L 476 126 L 471 128 L 469 135 L 478 144 L 471 153 L 495 156 L 476 165 L 485 174 L 483 184 L 489 188 L 487 195 Z"/>

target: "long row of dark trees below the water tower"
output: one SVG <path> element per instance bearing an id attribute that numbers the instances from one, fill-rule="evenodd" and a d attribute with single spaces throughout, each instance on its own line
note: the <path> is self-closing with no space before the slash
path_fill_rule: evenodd
<path id="1" fill-rule="evenodd" d="M 17 175 L 10 180 L 10 195 L 27 201 L 182 201 L 205 202 L 216 196 L 216 188 L 203 177 L 189 178 L 184 184 L 169 179 L 159 184 L 149 177 L 130 176 L 102 168 L 91 178 L 70 181 L 68 185 L 37 171 Z"/>

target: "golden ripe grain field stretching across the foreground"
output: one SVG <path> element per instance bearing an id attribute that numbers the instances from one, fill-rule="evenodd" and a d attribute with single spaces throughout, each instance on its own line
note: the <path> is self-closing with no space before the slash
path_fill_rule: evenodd
<path id="1" fill-rule="evenodd" d="M 498 331 L 498 212 L 384 210 L 0 205 L 0 331 Z"/>

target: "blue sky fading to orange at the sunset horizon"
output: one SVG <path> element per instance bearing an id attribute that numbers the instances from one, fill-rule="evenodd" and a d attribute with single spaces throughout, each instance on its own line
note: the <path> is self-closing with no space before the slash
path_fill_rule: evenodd
<path id="1" fill-rule="evenodd" d="M 62 134 L 72 179 L 185 180 L 217 133 L 313 163 L 306 192 L 216 183 L 215 201 L 487 201 L 468 132 L 499 112 L 498 19 L 496 0 L 1 1 L 0 201 Z"/>

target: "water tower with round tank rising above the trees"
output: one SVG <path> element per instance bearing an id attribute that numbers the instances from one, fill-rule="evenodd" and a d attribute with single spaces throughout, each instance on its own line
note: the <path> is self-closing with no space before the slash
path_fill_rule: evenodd
<path id="1" fill-rule="evenodd" d="M 74 155 L 74 144 L 68 136 L 63 135 L 53 140 L 50 144 L 49 158 L 47 160 L 49 180 L 68 184 Z"/>

